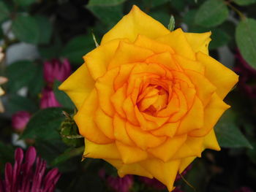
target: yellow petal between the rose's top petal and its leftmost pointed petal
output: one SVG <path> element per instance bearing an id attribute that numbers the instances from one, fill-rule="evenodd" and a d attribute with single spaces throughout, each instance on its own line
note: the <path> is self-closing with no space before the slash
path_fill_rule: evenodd
<path id="1" fill-rule="evenodd" d="M 99 47 L 95 48 L 94 50 L 83 56 L 83 59 L 86 62 L 91 77 L 93 77 L 94 80 L 102 77 L 102 75 L 107 72 L 108 64 L 113 58 L 119 42 L 120 39 L 115 39 L 105 45 L 100 45 Z"/>

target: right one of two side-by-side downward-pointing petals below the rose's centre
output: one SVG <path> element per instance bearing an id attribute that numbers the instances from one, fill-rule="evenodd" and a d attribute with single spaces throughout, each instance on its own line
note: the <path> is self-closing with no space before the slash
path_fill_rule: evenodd
<path id="1" fill-rule="evenodd" d="M 156 158 L 162 159 L 162 161 L 170 161 L 173 155 L 180 150 L 181 145 L 187 139 L 187 135 L 176 136 L 173 138 L 168 138 L 162 145 L 154 148 L 149 148 L 148 153 L 151 153 Z"/>

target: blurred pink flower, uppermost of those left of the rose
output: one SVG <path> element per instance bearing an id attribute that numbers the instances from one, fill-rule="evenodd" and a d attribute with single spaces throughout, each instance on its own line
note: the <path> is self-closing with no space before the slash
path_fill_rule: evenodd
<path id="1" fill-rule="evenodd" d="M 71 74 L 71 66 L 67 58 L 61 62 L 58 59 L 45 61 L 44 63 L 44 78 L 48 83 L 53 83 L 54 80 L 63 82 Z"/>

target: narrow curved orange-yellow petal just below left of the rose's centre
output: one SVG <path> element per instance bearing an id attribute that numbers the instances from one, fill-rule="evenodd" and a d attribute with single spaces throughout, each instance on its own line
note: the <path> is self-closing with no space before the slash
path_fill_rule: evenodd
<path id="1" fill-rule="evenodd" d="M 120 118 L 118 114 L 114 115 L 113 118 L 113 127 L 114 127 L 114 135 L 116 140 L 130 146 L 135 146 L 135 143 L 129 138 L 127 134 L 127 130 L 125 128 L 126 120 Z"/>

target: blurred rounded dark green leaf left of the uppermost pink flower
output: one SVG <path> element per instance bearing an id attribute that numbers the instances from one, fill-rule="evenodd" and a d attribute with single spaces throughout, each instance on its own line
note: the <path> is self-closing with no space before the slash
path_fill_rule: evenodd
<path id="1" fill-rule="evenodd" d="M 7 89 L 15 93 L 33 80 L 37 67 L 31 61 L 17 61 L 7 66 Z"/>

